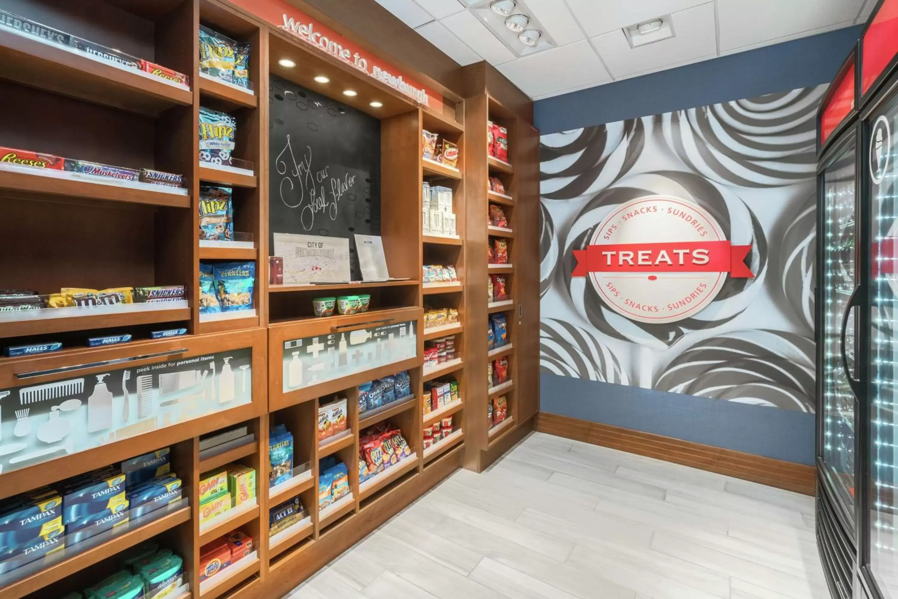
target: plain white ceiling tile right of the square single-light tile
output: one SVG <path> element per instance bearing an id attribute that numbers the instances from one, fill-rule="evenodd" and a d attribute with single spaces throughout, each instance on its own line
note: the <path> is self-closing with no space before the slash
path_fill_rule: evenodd
<path id="1" fill-rule="evenodd" d="M 850 22 L 864 0 L 718 0 L 720 50 Z"/>

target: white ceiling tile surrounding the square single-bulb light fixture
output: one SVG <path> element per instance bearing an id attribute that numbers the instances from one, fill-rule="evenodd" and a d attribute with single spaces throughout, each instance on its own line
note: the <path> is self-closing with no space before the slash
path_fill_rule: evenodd
<path id="1" fill-rule="evenodd" d="M 717 54 L 714 4 L 701 4 L 671 15 L 674 37 L 630 48 L 620 29 L 591 38 L 605 66 L 615 78 L 655 71 Z"/>

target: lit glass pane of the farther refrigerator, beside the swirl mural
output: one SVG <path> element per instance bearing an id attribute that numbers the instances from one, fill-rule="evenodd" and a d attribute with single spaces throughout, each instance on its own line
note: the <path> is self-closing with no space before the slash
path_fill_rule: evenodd
<path id="1" fill-rule="evenodd" d="M 852 135 L 853 137 L 853 135 Z M 842 319 L 857 285 L 855 175 L 857 144 L 845 145 L 823 172 L 823 463 L 843 515 L 854 521 L 855 396 L 842 366 Z M 844 352 L 855 366 L 854 318 Z"/>

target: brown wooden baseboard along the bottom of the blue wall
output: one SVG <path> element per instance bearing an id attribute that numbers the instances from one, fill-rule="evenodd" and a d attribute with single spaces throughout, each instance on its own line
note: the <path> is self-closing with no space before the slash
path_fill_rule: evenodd
<path id="1" fill-rule="evenodd" d="M 665 462 L 718 472 L 736 479 L 752 480 L 805 495 L 814 495 L 817 489 L 814 466 L 783 462 L 731 449 L 546 412 L 537 413 L 533 429 L 548 435 L 611 447 L 630 454 L 645 455 Z"/>

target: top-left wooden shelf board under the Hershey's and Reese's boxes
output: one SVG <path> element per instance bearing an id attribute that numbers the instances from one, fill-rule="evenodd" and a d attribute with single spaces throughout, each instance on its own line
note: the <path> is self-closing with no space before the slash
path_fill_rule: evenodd
<path id="1" fill-rule="evenodd" d="M 188 86 L 7 30 L 0 30 L 0 77 L 152 116 L 193 104 Z"/>

